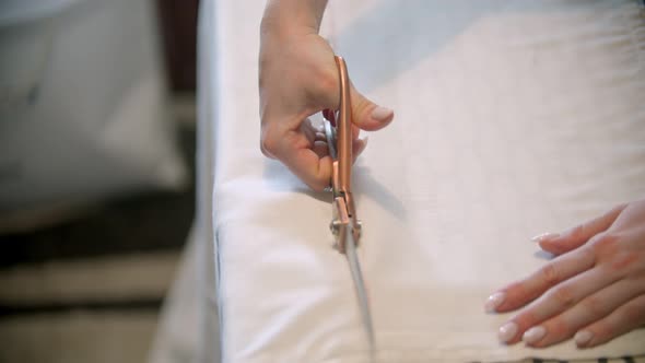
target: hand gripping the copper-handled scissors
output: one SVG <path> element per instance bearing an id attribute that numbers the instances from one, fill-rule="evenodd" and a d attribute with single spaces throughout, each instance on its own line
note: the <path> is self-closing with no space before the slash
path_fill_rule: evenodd
<path id="1" fill-rule="evenodd" d="M 322 130 L 307 117 L 322 109 L 337 109 L 340 80 L 329 44 L 315 27 L 275 30 L 262 26 L 260 49 L 260 116 L 262 153 L 283 162 L 314 190 L 331 179 L 331 157 Z M 349 67 L 349 66 L 348 66 Z M 351 77 L 351 72 L 350 72 Z M 377 130 L 387 126 L 394 112 L 378 107 L 351 86 L 353 154 L 366 145 L 359 128 Z"/>

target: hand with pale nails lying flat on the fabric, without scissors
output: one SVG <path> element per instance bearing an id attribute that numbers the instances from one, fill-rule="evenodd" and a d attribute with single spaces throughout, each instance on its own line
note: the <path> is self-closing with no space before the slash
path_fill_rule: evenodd
<path id="1" fill-rule="evenodd" d="M 574 337 L 590 348 L 645 326 L 645 200 L 535 239 L 558 257 L 489 297 L 489 312 L 521 307 L 501 341 L 542 348 Z"/>

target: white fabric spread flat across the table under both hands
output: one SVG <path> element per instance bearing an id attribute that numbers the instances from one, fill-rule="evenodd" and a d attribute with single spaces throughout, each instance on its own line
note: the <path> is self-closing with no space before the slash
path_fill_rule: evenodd
<path id="1" fill-rule="evenodd" d="M 214 234 L 224 362 L 365 362 L 329 196 L 259 151 L 262 2 L 223 0 Z M 382 362 L 645 353 L 496 340 L 488 295 L 544 265 L 529 237 L 645 196 L 645 20 L 636 1 L 332 1 L 324 33 L 394 107 L 355 165 L 360 257 Z"/>

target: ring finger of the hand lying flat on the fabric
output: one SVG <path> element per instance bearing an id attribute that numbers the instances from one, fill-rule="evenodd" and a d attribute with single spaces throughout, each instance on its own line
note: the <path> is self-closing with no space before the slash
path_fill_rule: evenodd
<path id="1" fill-rule="evenodd" d="M 600 321 L 612 312 L 620 309 L 625 302 L 631 302 L 638 296 L 638 290 L 643 289 L 638 289 L 634 282 L 626 280 L 610 284 L 585 297 L 573 308 L 541 324 L 538 321 L 539 325 L 524 333 L 523 340 L 530 347 L 543 348 L 566 340 L 574 335 L 585 338 L 587 335 L 580 332 L 582 328 Z"/>

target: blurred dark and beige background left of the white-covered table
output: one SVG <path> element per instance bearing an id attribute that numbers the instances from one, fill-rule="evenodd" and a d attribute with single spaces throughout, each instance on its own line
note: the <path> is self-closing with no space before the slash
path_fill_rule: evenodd
<path id="1" fill-rule="evenodd" d="M 0 362 L 149 360 L 195 213 L 198 2 L 0 0 Z"/>

